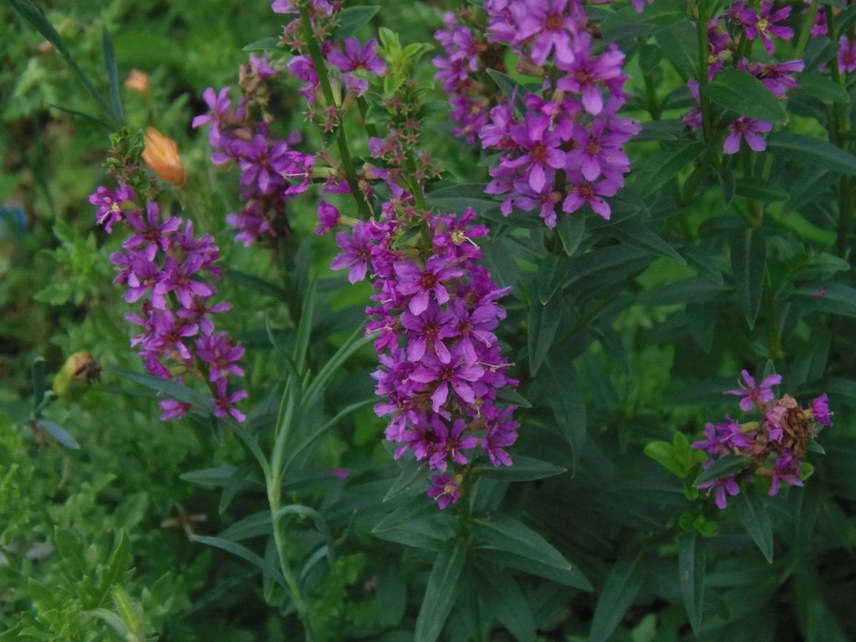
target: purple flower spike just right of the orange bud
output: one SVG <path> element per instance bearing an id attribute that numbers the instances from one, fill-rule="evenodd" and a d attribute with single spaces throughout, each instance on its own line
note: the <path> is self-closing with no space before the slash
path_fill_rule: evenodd
<path id="1" fill-rule="evenodd" d="M 288 234 L 288 199 L 306 191 L 315 163 L 314 156 L 294 149 L 300 134 L 282 140 L 272 130 L 272 116 L 253 117 L 253 94 L 259 93 L 264 82 L 275 74 L 266 57 L 251 55 L 250 64 L 241 69 L 242 85 L 247 89 L 239 103 L 233 107 L 229 87 L 219 92 L 209 87 L 204 98 L 211 112 L 193 118 L 194 128 L 211 126 L 211 162 L 231 162 L 241 169 L 243 208 L 229 214 L 226 220 L 238 230 L 236 239 L 245 246 Z"/>

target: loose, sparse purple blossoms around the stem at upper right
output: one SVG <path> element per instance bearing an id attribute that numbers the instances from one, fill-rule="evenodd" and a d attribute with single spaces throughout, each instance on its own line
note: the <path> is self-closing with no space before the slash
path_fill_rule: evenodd
<path id="1" fill-rule="evenodd" d="M 713 80 L 725 67 L 726 60 L 737 52 L 737 41 L 740 38 L 745 38 L 748 42 L 748 51 L 752 51 L 752 43 L 755 40 L 760 40 L 769 56 L 776 52 L 776 42 L 773 38 L 782 40 L 794 38 L 793 29 L 779 24 L 787 20 L 790 13 L 790 7 L 773 12 L 773 3 L 764 0 L 760 12 L 747 6 L 746 2 L 739 2 L 732 4 L 722 15 L 716 16 L 708 23 L 707 28 L 710 60 L 708 81 Z M 730 33 L 726 28 L 728 25 L 733 27 Z M 737 39 L 732 38 L 732 33 L 737 36 Z M 785 98 L 789 90 L 800 86 L 794 79 L 794 74 L 802 71 L 805 63 L 801 60 L 781 63 L 750 62 L 747 57 L 741 57 L 736 66 L 761 80 L 771 92 L 776 94 L 777 98 Z M 698 104 L 698 81 L 690 80 L 687 84 Z M 700 108 L 697 106 L 684 116 L 684 122 L 693 130 L 700 129 L 702 127 Z M 772 122 L 740 116 L 728 125 L 728 136 L 722 144 L 722 149 L 727 154 L 736 154 L 740 151 L 741 142 L 746 140 L 746 145 L 753 152 L 764 152 L 767 142 L 762 134 L 766 134 L 772 128 Z"/>

